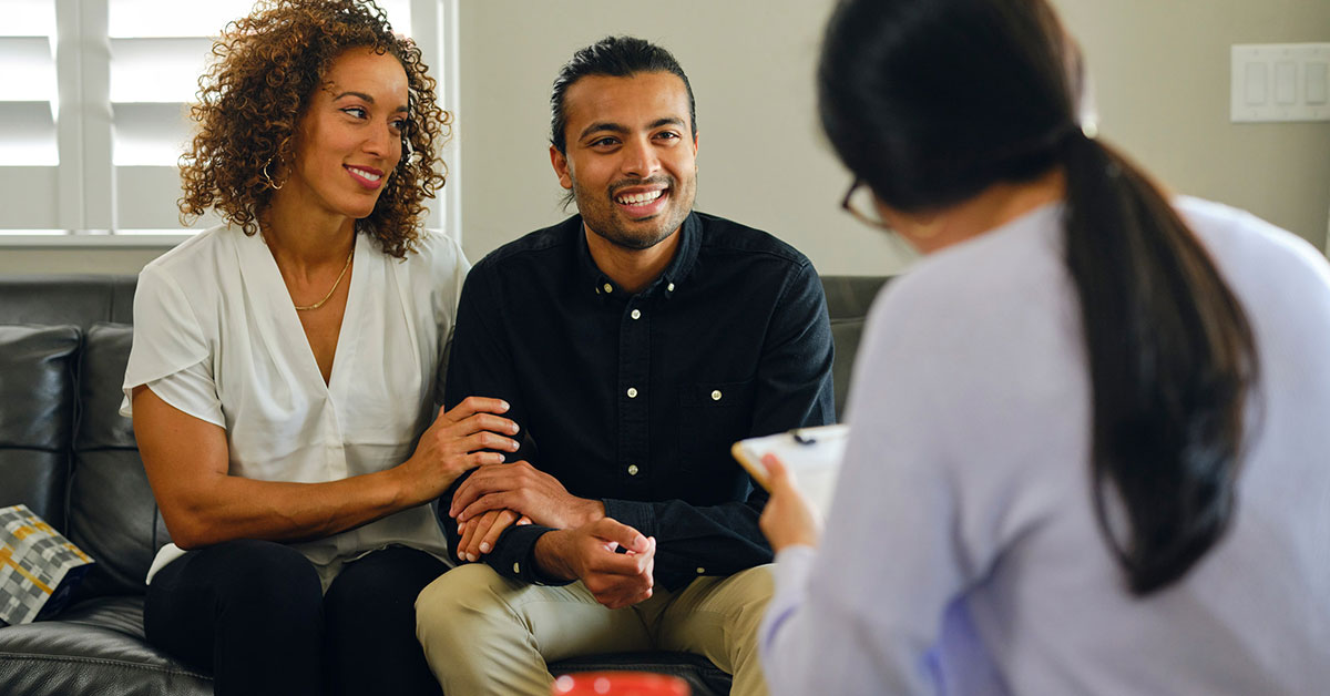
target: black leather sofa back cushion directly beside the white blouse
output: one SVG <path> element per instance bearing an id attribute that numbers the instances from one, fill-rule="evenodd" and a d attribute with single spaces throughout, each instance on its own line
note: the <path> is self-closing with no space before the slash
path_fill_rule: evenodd
<path id="1" fill-rule="evenodd" d="M 96 323 L 84 341 L 69 540 L 97 559 L 97 566 L 74 599 L 141 594 L 157 548 L 170 540 L 144 474 L 133 423 L 120 415 L 132 339 L 132 326 Z"/>

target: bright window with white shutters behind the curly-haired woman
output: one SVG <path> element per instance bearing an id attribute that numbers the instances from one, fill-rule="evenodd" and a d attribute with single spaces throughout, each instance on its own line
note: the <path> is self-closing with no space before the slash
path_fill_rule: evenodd
<path id="1" fill-rule="evenodd" d="M 443 68 L 456 61 L 444 60 L 442 39 L 456 0 L 376 1 L 416 39 L 440 102 L 455 108 L 455 72 Z M 176 161 L 190 138 L 189 104 L 213 40 L 253 3 L 0 0 L 0 244 L 181 233 Z M 451 226 L 455 190 L 439 202 L 428 224 Z M 214 224 L 207 216 L 194 229 Z"/>

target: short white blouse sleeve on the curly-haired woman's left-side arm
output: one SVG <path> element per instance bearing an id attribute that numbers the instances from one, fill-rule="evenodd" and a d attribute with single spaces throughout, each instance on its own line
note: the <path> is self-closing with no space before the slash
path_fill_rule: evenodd
<path id="1" fill-rule="evenodd" d="M 134 291 L 134 342 L 125 369 L 121 415 L 133 417 L 133 390 L 146 385 L 174 409 L 225 427 L 210 357 L 184 290 L 160 269 L 144 269 Z"/>

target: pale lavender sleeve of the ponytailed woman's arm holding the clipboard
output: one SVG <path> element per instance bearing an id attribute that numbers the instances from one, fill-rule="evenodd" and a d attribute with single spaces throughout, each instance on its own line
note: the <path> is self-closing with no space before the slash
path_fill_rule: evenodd
<path id="1" fill-rule="evenodd" d="M 871 389 L 851 395 L 822 546 L 782 550 L 758 632 L 777 696 L 936 693 L 934 649 L 948 607 L 990 563 L 954 522 L 962 496 L 951 426 L 967 422 L 956 413 L 967 394 L 946 375 L 954 366 L 927 359 L 939 337 L 926 319 L 874 314 L 854 377 Z"/>

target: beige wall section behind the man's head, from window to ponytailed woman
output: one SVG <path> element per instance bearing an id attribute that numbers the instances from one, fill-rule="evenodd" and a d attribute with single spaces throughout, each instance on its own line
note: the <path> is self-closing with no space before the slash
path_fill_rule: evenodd
<path id="1" fill-rule="evenodd" d="M 898 246 L 839 209 L 849 174 L 823 144 L 813 71 L 826 0 L 462 1 L 463 245 L 472 260 L 563 220 L 549 85 L 610 33 L 670 49 L 697 97 L 697 208 L 766 229 L 822 271 L 899 267 Z"/>

